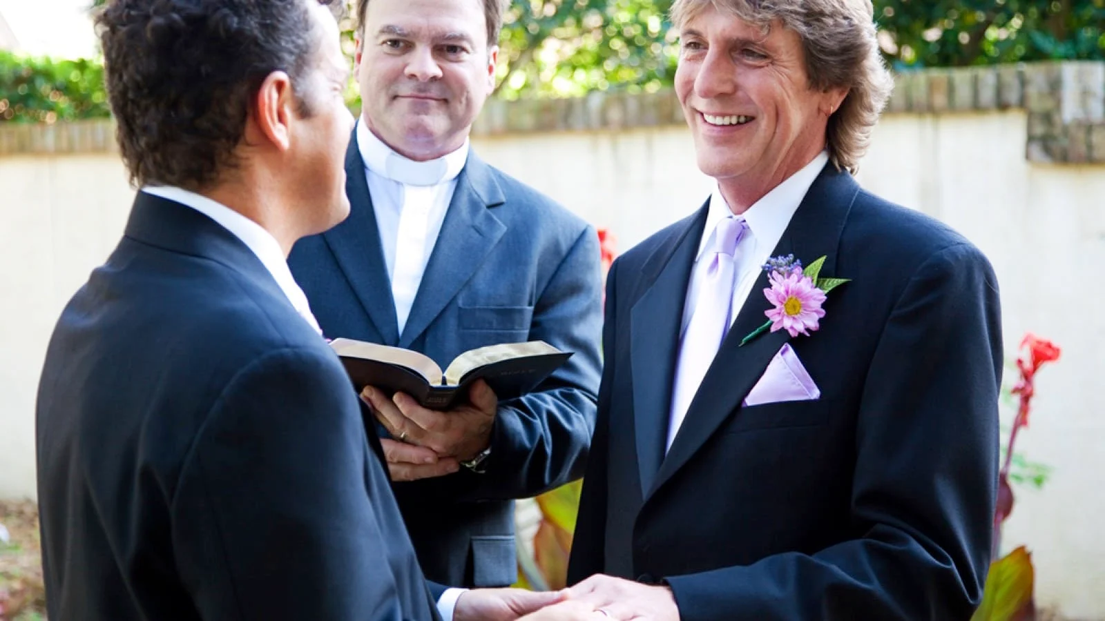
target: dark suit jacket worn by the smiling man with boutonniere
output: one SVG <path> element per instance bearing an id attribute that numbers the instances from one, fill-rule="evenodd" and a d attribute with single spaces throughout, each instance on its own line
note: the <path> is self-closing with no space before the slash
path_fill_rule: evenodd
<path id="1" fill-rule="evenodd" d="M 993 272 L 947 227 L 827 166 L 774 255 L 824 277 L 821 328 L 740 340 L 753 288 L 664 455 L 706 208 L 608 276 L 599 413 L 569 568 L 671 586 L 683 621 L 967 620 L 997 494 Z M 741 407 L 789 343 L 814 401 Z"/>

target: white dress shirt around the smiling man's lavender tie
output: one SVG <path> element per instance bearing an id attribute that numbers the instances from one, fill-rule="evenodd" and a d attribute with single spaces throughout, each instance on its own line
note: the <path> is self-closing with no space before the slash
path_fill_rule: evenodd
<path id="1" fill-rule="evenodd" d="M 810 186 L 813 185 L 813 181 L 821 173 L 821 169 L 824 168 L 828 161 L 829 154 L 821 151 L 811 162 L 788 177 L 782 183 L 776 186 L 764 198 L 756 201 L 747 211 L 738 217 L 745 220 L 748 224 L 748 230 L 745 231 L 733 255 L 734 283 L 732 310 L 729 313 L 730 325 L 732 322 L 736 320 L 740 308 L 745 305 L 745 301 L 751 293 L 751 288 L 756 284 L 764 264 L 767 263 L 775 246 L 782 239 L 782 233 L 790 224 L 790 219 L 793 218 L 794 212 L 798 211 L 798 206 L 801 204 L 802 199 L 806 198 L 806 193 L 810 190 Z M 703 286 L 702 283 L 706 278 L 706 269 L 709 266 L 709 262 L 702 259 L 706 255 L 706 251 L 714 246 L 714 233 L 717 229 L 717 223 L 730 215 L 733 215 L 733 212 L 729 210 L 728 203 L 725 202 L 725 198 L 722 197 L 720 188 L 715 187 L 714 193 L 709 197 L 706 225 L 703 229 L 702 241 L 698 243 L 698 253 L 695 256 L 694 265 L 691 267 L 691 282 L 687 285 L 686 301 L 683 304 L 683 322 L 680 326 L 681 343 L 686 333 L 687 324 L 691 323 L 691 316 L 694 315 L 695 302 L 698 298 L 698 288 Z M 796 259 L 810 262 L 818 257 L 798 256 Z M 767 319 L 765 318 L 765 320 Z M 675 377 L 678 378 L 680 376 L 681 373 L 676 369 Z M 697 387 L 694 387 L 691 393 L 693 394 L 695 391 L 697 391 Z M 678 390 L 673 390 L 672 392 L 674 394 Z M 669 412 L 669 448 L 671 448 L 675 439 L 675 433 L 683 422 L 682 417 L 683 413 L 675 412 L 674 408 Z"/>

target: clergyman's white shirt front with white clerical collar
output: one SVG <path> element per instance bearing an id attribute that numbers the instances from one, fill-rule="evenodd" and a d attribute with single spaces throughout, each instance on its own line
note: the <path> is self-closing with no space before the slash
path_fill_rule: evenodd
<path id="1" fill-rule="evenodd" d="M 357 148 L 365 160 L 368 191 L 396 302 L 396 319 L 402 334 L 445 211 L 453 200 L 456 176 L 469 160 L 469 140 L 438 159 L 414 161 L 383 144 L 361 119 L 357 122 Z"/>

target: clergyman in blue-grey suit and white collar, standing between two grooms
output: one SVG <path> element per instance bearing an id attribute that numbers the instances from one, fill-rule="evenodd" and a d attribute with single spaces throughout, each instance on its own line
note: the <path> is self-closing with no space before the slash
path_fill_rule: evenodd
<path id="1" fill-rule="evenodd" d="M 545 340 L 572 351 L 530 394 L 480 385 L 449 412 L 368 389 L 427 576 L 517 576 L 514 503 L 582 474 L 599 383 L 594 230 L 481 160 L 472 122 L 495 78 L 501 0 L 360 0 L 362 113 L 346 156 L 349 219 L 290 257 L 327 337 L 421 351 Z"/>

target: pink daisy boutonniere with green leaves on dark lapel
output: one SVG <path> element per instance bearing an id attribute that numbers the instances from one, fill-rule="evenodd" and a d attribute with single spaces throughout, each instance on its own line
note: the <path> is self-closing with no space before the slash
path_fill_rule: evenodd
<path id="1" fill-rule="evenodd" d="M 810 331 L 817 331 L 820 319 L 825 316 L 821 308 L 825 294 L 849 282 L 849 278 L 819 278 L 824 262 L 822 256 L 803 270 L 802 262 L 793 254 L 769 259 L 764 265 L 771 283 L 771 288 L 764 290 L 764 295 L 771 303 L 771 308 L 764 313 L 767 323 L 753 330 L 740 345 L 768 330 L 787 330 L 791 337 L 810 336 Z"/>

